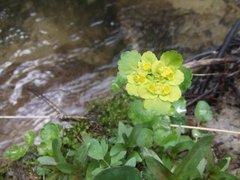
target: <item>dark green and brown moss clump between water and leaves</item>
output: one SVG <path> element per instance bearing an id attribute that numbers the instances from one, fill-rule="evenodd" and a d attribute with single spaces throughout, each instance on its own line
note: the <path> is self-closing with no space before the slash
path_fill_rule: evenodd
<path id="1" fill-rule="evenodd" d="M 110 137 L 119 121 L 128 120 L 129 98 L 126 93 L 118 93 L 108 100 L 98 99 L 89 103 L 87 119 L 79 119 L 71 128 L 64 129 L 63 144 L 74 148 L 81 142 L 82 131 L 87 131 L 92 137 Z"/>

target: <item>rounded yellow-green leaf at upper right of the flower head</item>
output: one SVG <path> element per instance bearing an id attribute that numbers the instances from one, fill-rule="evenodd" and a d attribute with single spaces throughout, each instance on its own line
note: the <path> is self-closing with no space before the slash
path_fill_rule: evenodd
<path id="1" fill-rule="evenodd" d="M 171 66 L 177 69 L 182 65 L 183 58 L 177 51 L 171 50 L 164 52 L 160 57 L 160 61 L 162 61 L 165 66 Z"/>

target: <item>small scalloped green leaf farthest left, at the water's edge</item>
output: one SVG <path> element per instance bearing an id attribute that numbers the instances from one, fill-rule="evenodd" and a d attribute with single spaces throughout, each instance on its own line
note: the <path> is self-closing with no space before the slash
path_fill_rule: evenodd
<path id="1" fill-rule="evenodd" d="M 27 149 L 25 147 L 13 145 L 10 148 L 8 148 L 6 151 L 4 151 L 3 157 L 5 159 L 16 161 L 21 157 L 23 157 L 26 153 L 27 153 Z"/>

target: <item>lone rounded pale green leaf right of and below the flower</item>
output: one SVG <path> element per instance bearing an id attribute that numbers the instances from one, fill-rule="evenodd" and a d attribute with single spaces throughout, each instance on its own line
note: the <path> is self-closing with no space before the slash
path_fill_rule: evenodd
<path id="1" fill-rule="evenodd" d="M 194 116 L 199 122 L 208 122 L 212 120 L 213 113 L 206 101 L 198 101 L 194 109 Z"/>

